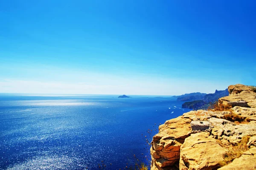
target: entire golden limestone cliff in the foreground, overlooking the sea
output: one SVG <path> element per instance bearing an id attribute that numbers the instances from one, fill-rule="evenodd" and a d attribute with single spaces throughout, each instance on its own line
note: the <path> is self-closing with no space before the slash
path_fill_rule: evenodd
<path id="1" fill-rule="evenodd" d="M 226 111 L 190 111 L 166 121 L 153 137 L 151 170 L 256 169 L 256 93 L 245 85 L 230 85 L 219 105 Z M 242 122 L 230 122 L 236 114 Z M 247 151 L 223 164 L 230 147 L 247 137 Z M 245 144 L 246 145 L 246 144 Z"/>

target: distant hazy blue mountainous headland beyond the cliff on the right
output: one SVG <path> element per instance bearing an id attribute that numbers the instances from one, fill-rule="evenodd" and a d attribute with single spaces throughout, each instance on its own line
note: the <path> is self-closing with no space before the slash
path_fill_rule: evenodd
<path id="1" fill-rule="evenodd" d="M 186 95 L 186 96 L 185 96 Z M 189 108 L 189 109 L 207 109 L 209 107 L 210 102 L 215 102 L 221 97 L 228 96 L 228 90 L 223 90 L 223 91 L 218 91 L 215 90 L 215 93 L 213 94 L 205 94 L 204 96 L 201 95 L 200 98 L 200 93 L 191 93 L 191 94 L 184 94 L 181 96 L 176 96 L 178 97 L 178 101 L 188 101 L 186 99 L 190 99 L 189 102 L 185 102 L 182 105 L 182 108 Z"/>

